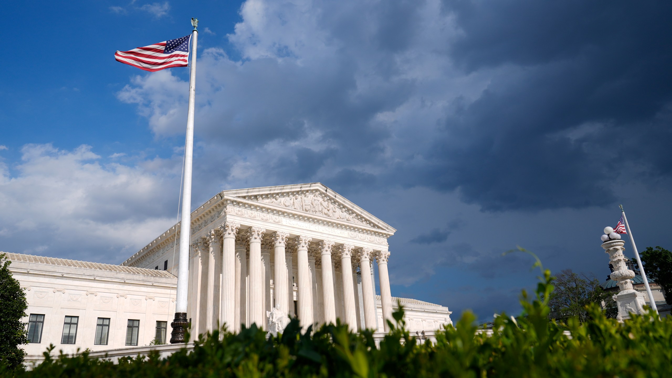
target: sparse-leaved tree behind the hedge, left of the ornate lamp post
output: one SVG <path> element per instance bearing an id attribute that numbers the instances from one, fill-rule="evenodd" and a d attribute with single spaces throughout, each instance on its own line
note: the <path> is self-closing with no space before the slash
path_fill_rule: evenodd
<path id="1" fill-rule="evenodd" d="M 601 305 L 602 301 L 607 304 L 607 315 L 612 312 L 609 311 L 613 307 L 609 306 L 612 302 L 610 293 L 602 289 L 599 280 L 592 274 L 577 274 L 565 269 L 556 276 L 553 284 L 555 289 L 548 301 L 549 317 L 552 319 L 577 317 L 583 323 L 589 319 L 585 306 L 590 303 Z"/>

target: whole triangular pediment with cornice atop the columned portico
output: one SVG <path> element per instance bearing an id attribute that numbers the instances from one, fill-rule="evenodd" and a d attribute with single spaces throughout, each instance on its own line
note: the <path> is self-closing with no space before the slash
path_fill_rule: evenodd
<path id="1" fill-rule="evenodd" d="M 263 188 L 224 190 L 222 196 L 232 196 L 278 206 L 290 211 L 308 213 L 343 223 L 351 223 L 394 233 L 396 229 L 374 217 L 327 186 L 314 182 Z"/>

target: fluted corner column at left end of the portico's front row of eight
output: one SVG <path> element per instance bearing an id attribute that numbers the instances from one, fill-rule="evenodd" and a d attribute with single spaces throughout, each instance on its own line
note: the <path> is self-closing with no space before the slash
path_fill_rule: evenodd
<path id="1" fill-rule="evenodd" d="M 229 332 L 236 326 L 236 234 L 241 225 L 222 223 L 222 301 L 220 303 L 220 326 Z"/>

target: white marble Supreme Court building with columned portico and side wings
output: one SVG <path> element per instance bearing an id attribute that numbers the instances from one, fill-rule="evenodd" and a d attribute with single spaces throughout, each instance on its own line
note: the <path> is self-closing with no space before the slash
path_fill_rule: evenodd
<path id="1" fill-rule="evenodd" d="M 167 342 L 179 229 L 118 266 L 8 253 L 28 299 L 28 354 L 50 343 L 74 352 Z M 388 238 L 395 231 L 320 183 L 218 193 L 192 213 L 192 338 L 222 325 L 266 329 L 266 311 L 276 305 L 304 328 L 340 319 L 355 331 L 386 332 L 397 303 L 412 332 L 450 324 L 447 307 L 391 296 Z"/>

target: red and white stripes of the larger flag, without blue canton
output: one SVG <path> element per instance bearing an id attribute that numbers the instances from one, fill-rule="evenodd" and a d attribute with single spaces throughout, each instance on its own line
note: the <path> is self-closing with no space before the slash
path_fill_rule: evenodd
<path id="1" fill-rule="evenodd" d="M 187 67 L 189 52 L 175 51 L 164 54 L 166 41 L 149 46 L 134 48 L 130 51 L 117 51 L 114 59 L 118 62 L 144 69 L 144 71 L 159 71 L 170 67 Z"/>

